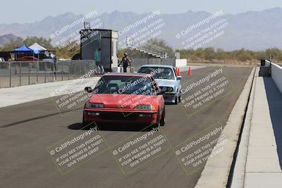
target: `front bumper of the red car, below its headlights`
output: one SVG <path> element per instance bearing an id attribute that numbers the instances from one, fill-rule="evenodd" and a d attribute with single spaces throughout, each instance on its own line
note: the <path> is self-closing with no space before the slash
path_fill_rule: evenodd
<path id="1" fill-rule="evenodd" d="M 157 123 L 157 111 L 137 111 L 118 108 L 85 108 L 84 120 L 87 123 L 117 123 L 150 125 Z"/>

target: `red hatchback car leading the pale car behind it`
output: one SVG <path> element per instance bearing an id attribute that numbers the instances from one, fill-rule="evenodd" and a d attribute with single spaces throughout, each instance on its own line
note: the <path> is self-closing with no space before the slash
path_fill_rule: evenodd
<path id="1" fill-rule="evenodd" d="M 164 126 L 164 92 L 152 75 L 106 73 L 85 103 L 83 124 L 122 123 Z"/>

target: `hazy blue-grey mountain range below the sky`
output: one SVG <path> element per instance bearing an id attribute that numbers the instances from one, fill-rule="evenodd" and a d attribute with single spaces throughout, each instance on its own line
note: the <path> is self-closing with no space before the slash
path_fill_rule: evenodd
<path id="1" fill-rule="evenodd" d="M 161 19 L 164 25 L 159 29 L 161 32 L 157 35 L 157 38 L 164 39 L 166 43 L 174 49 L 181 49 L 184 47 L 182 44 L 183 40 L 189 39 L 224 18 L 228 25 L 222 29 L 223 35 L 208 42 L 205 47 L 212 46 L 227 51 L 242 48 L 256 51 L 271 47 L 282 48 L 282 8 L 271 8 L 264 11 L 248 11 L 238 14 L 223 14 L 210 20 L 209 23 L 204 23 L 200 27 L 195 28 L 195 30 L 192 30 L 180 39 L 177 39 L 176 35 L 181 33 L 181 31 L 187 30 L 191 25 L 201 23 L 203 20 L 210 18 L 213 14 L 214 13 L 205 11 L 188 11 L 186 13 L 175 14 L 160 13 L 154 16 L 154 18 L 149 18 L 146 23 L 140 24 L 140 20 L 147 18 L 147 16 L 152 15 L 152 13 L 138 14 L 114 11 L 112 13 L 97 15 L 97 17 L 88 19 L 87 22 L 98 19 L 100 20 L 100 25 L 97 24 L 99 27 L 118 31 L 123 31 L 124 28 L 130 26 L 130 30 L 128 30 L 125 35 L 119 36 L 119 41 L 121 42 L 125 37 L 133 35 L 134 33 L 136 34 L 138 31 L 148 27 L 150 23 Z M 0 36 L 6 36 L 0 37 L 0 45 L 4 44 L 8 39 L 11 39 L 11 36 L 15 35 L 18 37 L 37 36 L 47 38 L 51 35 L 55 36 L 54 34 L 60 31 L 61 28 L 66 28 L 66 25 L 77 23 L 75 21 L 85 18 L 84 16 L 85 15 L 75 15 L 74 13 L 67 12 L 57 16 L 49 16 L 35 23 L 0 23 Z M 131 27 L 132 25 L 136 27 Z M 82 27 L 82 22 L 76 24 L 74 27 L 64 32 L 63 35 L 54 37 L 52 43 L 54 45 L 60 45 L 63 38 L 71 35 L 75 30 L 80 30 Z M 142 32 L 138 35 L 142 35 Z"/>

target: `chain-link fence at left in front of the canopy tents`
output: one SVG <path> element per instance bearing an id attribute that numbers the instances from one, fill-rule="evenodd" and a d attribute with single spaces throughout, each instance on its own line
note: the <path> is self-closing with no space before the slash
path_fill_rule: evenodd
<path id="1" fill-rule="evenodd" d="M 73 80 L 94 68 L 94 61 L 4 61 L 0 88 Z"/>

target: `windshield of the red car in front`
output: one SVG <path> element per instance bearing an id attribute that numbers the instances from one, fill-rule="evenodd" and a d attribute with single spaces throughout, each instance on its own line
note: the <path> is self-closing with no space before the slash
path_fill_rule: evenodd
<path id="1" fill-rule="evenodd" d="M 142 94 L 155 95 L 148 77 L 103 76 L 94 94 Z"/>

